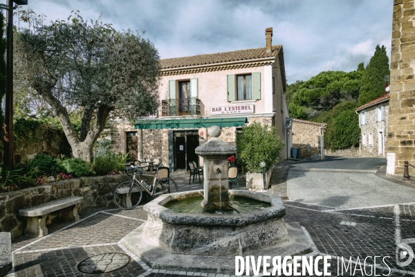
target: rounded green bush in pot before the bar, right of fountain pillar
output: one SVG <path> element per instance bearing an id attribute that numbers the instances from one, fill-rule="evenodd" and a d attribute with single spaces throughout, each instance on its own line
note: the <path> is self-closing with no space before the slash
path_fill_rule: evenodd
<path id="1" fill-rule="evenodd" d="M 246 170 L 261 172 L 259 162 L 265 161 L 266 170 L 279 159 L 284 143 L 275 135 L 277 129 L 261 123 L 252 123 L 242 128 L 237 136 L 238 160 L 242 161 Z"/>

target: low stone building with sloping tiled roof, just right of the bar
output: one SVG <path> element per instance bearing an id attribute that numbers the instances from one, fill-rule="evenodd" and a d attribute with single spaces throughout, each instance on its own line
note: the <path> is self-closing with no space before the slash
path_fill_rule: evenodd
<path id="1" fill-rule="evenodd" d="M 320 154 L 320 134 L 325 127 L 325 123 L 293 118 L 293 147 L 299 148 L 300 157 L 311 158 L 314 154 Z M 307 149 L 308 144 L 310 151 Z"/>

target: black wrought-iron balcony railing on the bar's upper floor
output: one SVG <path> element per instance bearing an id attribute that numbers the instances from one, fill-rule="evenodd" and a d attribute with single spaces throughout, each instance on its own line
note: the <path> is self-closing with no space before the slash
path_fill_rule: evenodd
<path id="1" fill-rule="evenodd" d="M 203 109 L 203 103 L 199 98 L 161 101 L 161 116 L 200 116 Z"/>

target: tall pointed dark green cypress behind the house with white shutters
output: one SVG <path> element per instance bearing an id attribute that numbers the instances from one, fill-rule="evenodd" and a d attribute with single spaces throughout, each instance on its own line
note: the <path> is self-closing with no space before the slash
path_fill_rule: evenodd
<path id="1" fill-rule="evenodd" d="M 385 76 L 389 76 L 389 58 L 386 48 L 376 46 L 375 53 L 362 75 L 362 85 L 359 91 L 359 105 L 374 100 L 385 91 Z"/>

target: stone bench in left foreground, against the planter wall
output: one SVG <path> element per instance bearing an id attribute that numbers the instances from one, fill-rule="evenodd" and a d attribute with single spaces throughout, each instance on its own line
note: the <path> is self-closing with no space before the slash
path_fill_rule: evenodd
<path id="1" fill-rule="evenodd" d="M 50 224 L 57 215 L 61 215 L 64 220 L 68 221 L 80 220 L 77 211 L 83 199 L 84 197 L 66 197 L 19 210 L 19 215 L 26 217 L 28 222 L 24 234 L 28 237 L 38 238 L 47 235 L 48 229 L 46 225 Z M 57 211 L 59 213 L 55 213 Z"/>

